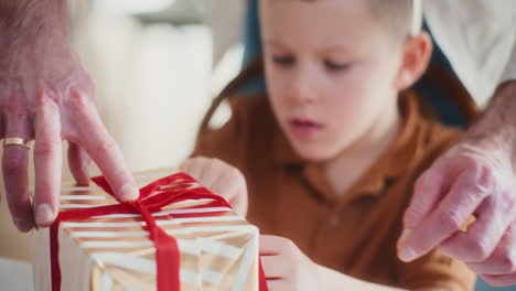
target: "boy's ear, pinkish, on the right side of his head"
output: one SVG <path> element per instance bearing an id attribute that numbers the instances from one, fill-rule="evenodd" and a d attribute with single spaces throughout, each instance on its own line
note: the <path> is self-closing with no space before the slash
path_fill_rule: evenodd
<path id="1" fill-rule="evenodd" d="M 427 32 L 409 36 L 404 47 L 401 65 L 395 80 L 398 90 L 409 88 L 424 74 L 432 51 L 432 37 Z"/>

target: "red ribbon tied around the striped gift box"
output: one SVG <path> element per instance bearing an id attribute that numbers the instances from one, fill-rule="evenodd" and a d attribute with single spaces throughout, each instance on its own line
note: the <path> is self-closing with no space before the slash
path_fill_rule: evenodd
<path id="1" fill-rule="evenodd" d="M 92 179 L 104 191 L 115 197 L 115 193 L 109 187 L 104 176 Z M 229 207 L 229 204 L 221 196 L 212 194 L 205 187 L 185 188 L 181 186 L 191 186 L 197 182 L 190 175 L 180 173 L 160 179 L 140 190 L 140 196 L 133 202 L 121 202 L 116 205 L 107 205 L 92 208 L 80 208 L 61 212 L 51 226 L 51 270 L 52 270 L 52 290 L 61 290 L 61 267 L 60 267 L 60 246 L 58 229 L 62 222 L 88 219 L 94 216 L 104 216 L 110 214 L 140 214 L 147 223 L 147 229 L 150 239 L 154 242 L 157 250 L 157 281 L 158 291 L 181 290 L 180 287 L 180 251 L 178 240 L 169 236 L 161 229 L 152 213 L 160 212 L 166 205 L 185 200 L 213 200 L 205 207 Z M 178 186 L 162 190 L 163 186 Z M 179 188 L 179 190 L 178 190 Z M 259 290 L 268 291 L 266 277 L 259 263 Z"/>

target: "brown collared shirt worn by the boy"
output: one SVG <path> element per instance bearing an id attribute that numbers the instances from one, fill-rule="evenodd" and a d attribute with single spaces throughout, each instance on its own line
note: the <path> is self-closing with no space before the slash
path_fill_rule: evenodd
<path id="1" fill-rule="evenodd" d="M 202 133 L 193 155 L 222 159 L 244 173 L 247 218 L 262 234 L 288 237 L 316 263 L 370 282 L 473 290 L 465 265 L 437 250 L 410 263 L 396 255 L 416 179 L 460 137 L 423 116 L 416 95 L 400 97 L 401 132 L 344 195 L 334 193 L 320 164 L 295 154 L 265 96 L 234 97 L 230 105 L 232 119 Z"/>

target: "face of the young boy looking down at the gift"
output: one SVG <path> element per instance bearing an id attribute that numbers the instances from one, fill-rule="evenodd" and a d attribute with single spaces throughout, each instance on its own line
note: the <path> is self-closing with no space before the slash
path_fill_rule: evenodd
<path id="1" fill-rule="evenodd" d="M 304 159 L 336 157 L 397 107 L 402 44 L 365 0 L 260 0 L 268 94 Z"/>

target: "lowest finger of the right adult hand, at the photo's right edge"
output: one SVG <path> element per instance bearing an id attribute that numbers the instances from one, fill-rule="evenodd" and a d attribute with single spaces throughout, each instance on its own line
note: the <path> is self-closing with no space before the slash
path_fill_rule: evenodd
<path id="1" fill-rule="evenodd" d="M 493 255 L 483 262 L 469 262 L 467 267 L 482 274 L 516 273 L 516 222 L 505 233 Z"/>

